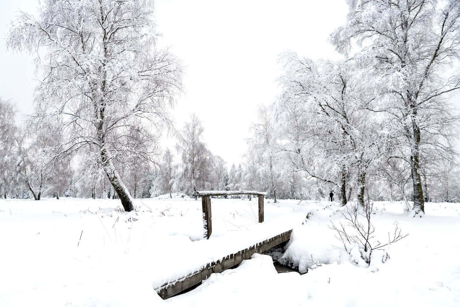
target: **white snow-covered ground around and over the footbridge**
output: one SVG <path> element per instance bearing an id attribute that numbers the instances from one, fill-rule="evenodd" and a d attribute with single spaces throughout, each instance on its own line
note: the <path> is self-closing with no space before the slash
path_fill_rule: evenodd
<path id="1" fill-rule="evenodd" d="M 117 200 L 1 199 L 0 306 L 460 306 L 457 203 L 428 203 L 423 218 L 375 203 L 376 239 L 395 224 L 409 236 L 386 249 L 385 263 L 375 252 L 364 267 L 329 229 L 343 219 L 337 203 L 265 200 L 258 224 L 255 200 L 213 199 L 213 235 L 202 240 L 200 199 L 135 202 L 136 212 L 122 213 Z M 281 261 L 307 274 L 277 274 L 270 256 L 254 255 L 186 294 L 163 301 L 155 293 L 288 229 Z"/>

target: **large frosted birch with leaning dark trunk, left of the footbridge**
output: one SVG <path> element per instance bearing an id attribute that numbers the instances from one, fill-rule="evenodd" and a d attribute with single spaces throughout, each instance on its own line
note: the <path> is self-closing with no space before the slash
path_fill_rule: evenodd
<path id="1" fill-rule="evenodd" d="M 6 35 L 9 49 L 36 54 L 43 73 L 35 122 L 60 120 L 66 138 L 58 155 L 97 148 L 126 211 L 132 198 L 114 159 L 150 158 L 182 88 L 181 62 L 157 46 L 157 36 L 151 0 L 45 0 L 36 18 L 19 12 Z"/>

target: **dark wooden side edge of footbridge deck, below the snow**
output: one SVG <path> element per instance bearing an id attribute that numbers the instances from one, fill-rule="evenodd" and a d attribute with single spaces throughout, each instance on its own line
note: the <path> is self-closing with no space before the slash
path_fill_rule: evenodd
<path id="1" fill-rule="evenodd" d="M 177 281 L 164 284 L 160 288 L 155 289 L 158 295 L 163 299 L 167 299 L 176 295 L 184 290 L 201 283 L 203 280 L 209 278 L 212 273 L 220 273 L 229 269 L 230 267 L 240 264 L 243 260 L 251 259 L 254 253 L 265 252 L 266 250 L 288 241 L 291 238 L 291 230 L 283 232 L 275 237 L 271 237 L 264 242 L 256 243 L 252 247 L 238 251 L 235 254 L 230 254 L 223 257 L 221 260 L 208 263 L 203 269 L 194 272 L 189 276 L 180 278 Z"/>

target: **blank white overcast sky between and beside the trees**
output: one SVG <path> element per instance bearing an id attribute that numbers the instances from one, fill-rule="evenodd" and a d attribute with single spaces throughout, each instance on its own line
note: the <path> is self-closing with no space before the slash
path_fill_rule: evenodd
<path id="1" fill-rule="evenodd" d="M 3 1 L 0 24 L 18 9 L 34 13 L 34 0 Z M 185 94 L 174 110 L 177 127 L 190 113 L 200 116 L 205 141 L 215 155 L 241 161 L 259 104 L 268 105 L 279 89 L 276 64 L 284 50 L 310 58 L 339 58 L 328 34 L 345 22 L 345 0 L 156 0 L 156 21 L 172 52 L 187 67 Z M 2 28 L 5 33 L 6 27 Z M 0 40 L 0 96 L 32 111 L 35 66 L 28 54 L 6 52 Z M 171 147 L 175 141 L 168 141 Z"/>

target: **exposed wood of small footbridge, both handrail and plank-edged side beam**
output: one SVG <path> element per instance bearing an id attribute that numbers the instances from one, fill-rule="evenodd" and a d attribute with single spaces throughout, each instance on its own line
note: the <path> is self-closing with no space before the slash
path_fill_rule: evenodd
<path id="1" fill-rule="evenodd" d="M 259 223 L 264 221 L 264 192 L 256 191 L 197 191 L 193 193 L 194 196 L 201 197 L 201 205 L 203 209 L 203 236 L 208 239 L 212 232 L 211 223 L 211 197 L 212 196 L 225 196 L 225 195 L 238 195 L 250 194 L 259 197 Z M 187 276 L 179 278 L 178 280 L 166 283 L 156 288 L 155 291 L 163 299 L 167 299 L 176 295 L 184 290 L 200 284 L 203 280 L 211 276 L 212 273 L 220 273 L 225 270 L 240 264 L 243 260 L 250 259 L 255 253 L 263 253 L 266 250 L 275 247 L 278 244 L 288 241 L 291 238 L 292 230 L 280 233 L 275 237 L 270 237 L 262 242 L 256 242 L 253 246 L 246 249 L 235 251 L 234 254 L 222 255 L 222 259 L 207 263 L 201 269 L 190 273 Z"/>

